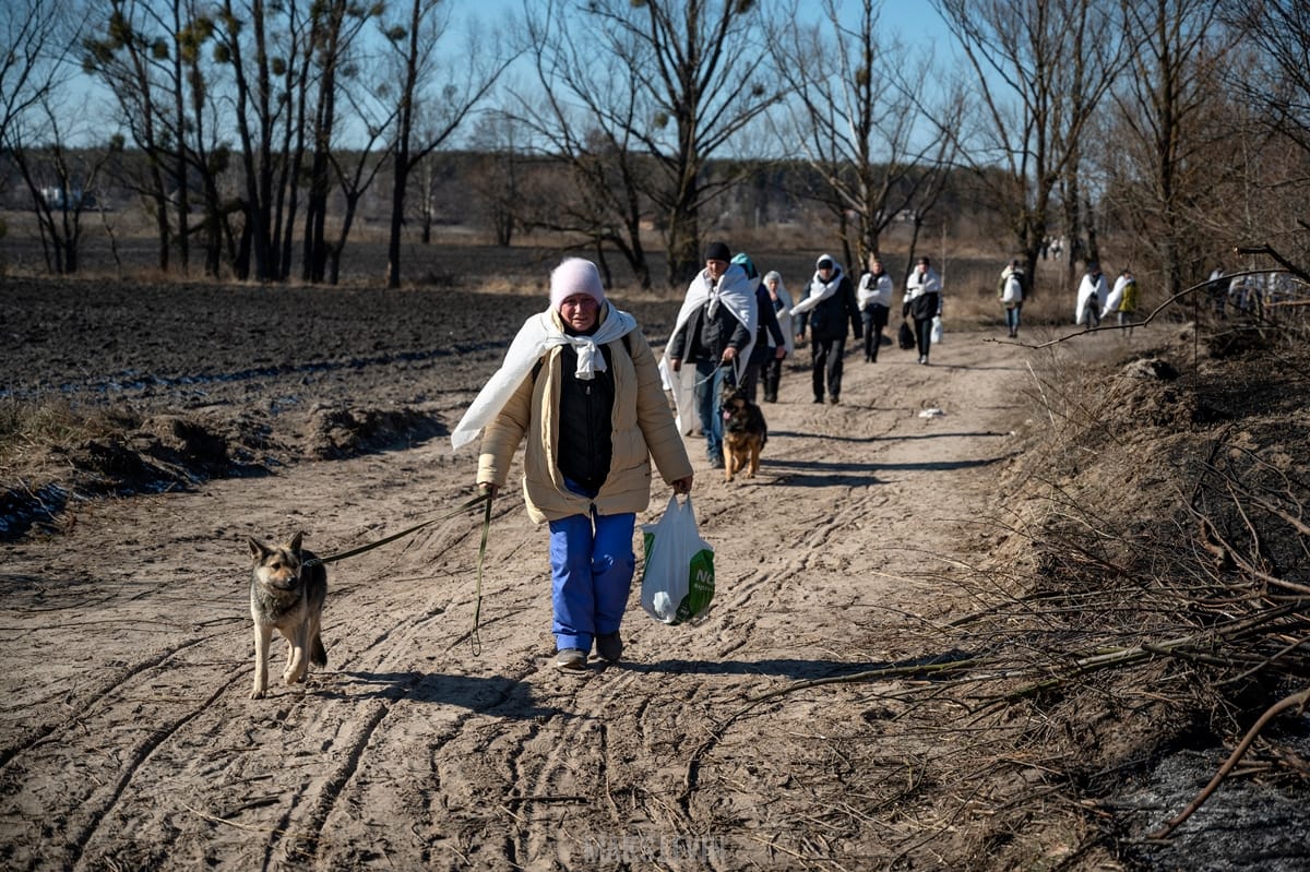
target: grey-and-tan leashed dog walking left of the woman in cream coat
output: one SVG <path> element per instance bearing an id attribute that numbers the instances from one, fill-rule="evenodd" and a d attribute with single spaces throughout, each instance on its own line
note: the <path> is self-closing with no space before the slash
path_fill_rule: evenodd
<path id="1" fill-rule="evenodd" d="M 269 642 L 278 630 L 287 640 L 287 668 L 282 680 L 288 685 L 303 681 L 309 663 L 328 665 L 318 628 L 328 601 L 328 570 L 300 547 L 304 533 L 275 546 L 250 538 L 250 617 L 254 618 L 254 690 L 250 699 L 262 699 L 269 690 Z M 307 661 L 308 649 L 308 661 Z"/>

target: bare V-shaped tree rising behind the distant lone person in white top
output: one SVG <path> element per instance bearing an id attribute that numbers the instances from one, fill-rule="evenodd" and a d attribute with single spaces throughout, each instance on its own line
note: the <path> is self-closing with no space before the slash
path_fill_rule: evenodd
<path id="1" fill-rule="evenodd" d="M 933 5 L 973 69 L 980 98 L 980 117 L 962 131 L 962 154 L 1006 216 L 1027 274 L 1034 275 L 1055 206 L 1064 209 L 1061 229 L 1077 257 L 1094 258 L 1094 236 L 1082 237 L 1091 199 L 1082 156 L 1103 136 L 1102 101 L 1128 54 L 1117 7 L 1096 0 Z M 988 172 L 993 166 L 1005 173 Z"/>

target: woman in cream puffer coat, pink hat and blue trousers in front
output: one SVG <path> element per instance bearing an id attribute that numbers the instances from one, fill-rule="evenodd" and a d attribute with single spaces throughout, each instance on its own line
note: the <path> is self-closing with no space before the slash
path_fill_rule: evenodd
<path id="1" fill-rule="evenodd" d="M 693 474 L 655 355 L 635 319 L 605 300 L 596 264 L 570 258 L 550 274 L 550 308 L 519 330 L 451 444 L 483 428 L 476 483 L 490 498 L 527 444 L 524 503 L 550 525 L 555 665 L 584 670 L 593 643 L 618 660 L 651 461 L 677 494 Z"/>

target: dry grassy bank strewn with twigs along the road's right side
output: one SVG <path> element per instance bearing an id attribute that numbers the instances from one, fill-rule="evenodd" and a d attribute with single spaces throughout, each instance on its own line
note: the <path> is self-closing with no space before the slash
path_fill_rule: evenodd
<path id="1" fill-rule="evenodd" d="M 831 680 L 867 685 L 879 735 L 844 807 L 907 858 L 954 842 L 969 868 L 1131 867 L 1148 833 L 1116 797 L 1184 746 L 1235 746 L 1210 790 L 1310 782 L 1279 735 L 1310 699 L 1310 354 L 1294 325 L 1195 330 L 1035 352 L 1005 499 L 962 521 L 979 556 L 933 572 L 967 614 L 878 627 L 863 657 L 892 665 Z"/>

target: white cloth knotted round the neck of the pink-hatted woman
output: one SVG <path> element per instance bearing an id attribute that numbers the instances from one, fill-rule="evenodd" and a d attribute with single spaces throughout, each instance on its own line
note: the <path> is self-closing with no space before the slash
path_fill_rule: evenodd
<path id="1" fill-rule="evenodd" d="M 590 381 L 597 372 L 605 372 L 605 355 L 600 346 L 614 342 L 637 329 L 637 318 L 605 302 L 608 316 L 590 336 L 571 336 L 562 331 L 546 309 L 523 322 L 519 334 L 510 343 L 504 363 L 473 399 L 464 418 L 451 431 L 451 448 L 458 450 L 477 439 L 478 432 L 495 418 L 517 390 L 523 380 L 537 365 L 541 355 L 555 346 L 571 344 L 578 350 L 576 377 Z M 605 316 L 605 309 L 601 310 Z"/>

